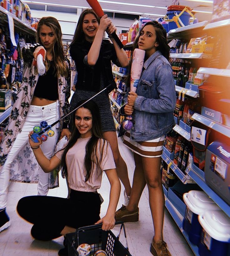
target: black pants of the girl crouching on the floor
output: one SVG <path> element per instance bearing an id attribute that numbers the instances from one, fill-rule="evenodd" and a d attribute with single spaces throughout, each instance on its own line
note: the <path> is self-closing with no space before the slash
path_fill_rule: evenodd
<path id="1" fill-rule="evenodd" d="M 79 228 L 93 225 L 100 219 L 98 193 L 71 190 L 70 198 L 29 196 L 17 204 L 18 214 L 34 224 L 31 235 L 48 241 L 58 238 L 65 226 Z"/>

